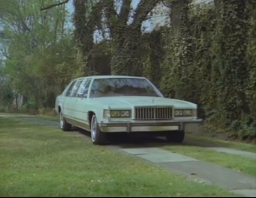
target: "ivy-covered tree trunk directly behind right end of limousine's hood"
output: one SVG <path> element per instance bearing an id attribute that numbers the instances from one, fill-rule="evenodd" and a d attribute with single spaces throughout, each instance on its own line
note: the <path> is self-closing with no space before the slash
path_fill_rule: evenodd
<path id="1" fill-rule="evenodd" d="M 166 42 L 168 47 L 163 62 L 163 70 L 167 69 L 161 80 L 161 88 L 165 95 L 175 92 L 175 97 L 187 101 L 198 101 L 195 94 L 195 75 L 192 68 L 192 36 L 190 32 L 189 4 L 183 1 L 180 9 L 180 28 L 170 31 Z M 167 86 L 167 87 L 166 87 Z"/>

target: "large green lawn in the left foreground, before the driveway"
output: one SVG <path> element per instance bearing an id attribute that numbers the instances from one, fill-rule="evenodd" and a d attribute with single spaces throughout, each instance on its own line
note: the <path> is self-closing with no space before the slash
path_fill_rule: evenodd
<path id="1" fill-rule="evenodd" d="M 0 196 L 231 196 L 78 132 L 0 117 Z"/>

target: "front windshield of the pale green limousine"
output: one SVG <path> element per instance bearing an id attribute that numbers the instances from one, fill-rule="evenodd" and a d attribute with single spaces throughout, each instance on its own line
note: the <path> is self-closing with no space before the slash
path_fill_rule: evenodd
<path id="1" fill-rule="evenodd" d="M 95 79 L 91 86 L 91 97 L 108 96 L 155 96 L 156 89 L 146 79 L 110 78 Z"/>

